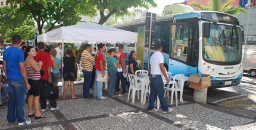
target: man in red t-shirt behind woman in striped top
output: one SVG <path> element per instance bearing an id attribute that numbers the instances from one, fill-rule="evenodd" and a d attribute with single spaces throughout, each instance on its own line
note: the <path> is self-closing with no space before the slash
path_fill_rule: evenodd
<path id="1" fill-rule="evenodd" d="M 38 53 L 36 53 L 35 60 L 43 62 L 42 69 L 45 72 L 45 74 L 43 74 L 40 78 L 41 80 L 43 80 L 43 83 L 44 83 L 43 86 L 46 86 L 47 83 L 52 83 L 51 67 L 53 66 L 53 63 L 52 63 L 50 54 L 45 52 L 45 43 L 38 42 Z M 41 89 L 41 93 L 40 93 L 41 112 L 45 112 L 46 110 L 46 99 L 42 98 L 43 89 L 44 88 Z M 57 110 L 56 99 L 49 99 L 49 100 L 51 103 L 51 111 Z"/>

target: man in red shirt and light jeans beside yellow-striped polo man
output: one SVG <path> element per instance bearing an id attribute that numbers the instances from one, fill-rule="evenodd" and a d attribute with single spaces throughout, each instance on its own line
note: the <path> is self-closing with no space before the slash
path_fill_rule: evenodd
<path id="1" fill-rule="evenodd" d="M 104 67 L 105 67 L 105 64 L 104 64 L 104 57 L 102 55 L 102 51 L 105 50 L 105 45 L 100 43 L 98 44 L 98 53 L 96 54 L 96 58 L 95 58 L 95 80 L 94 80 L 94 96 L 97 97 L 98 99 L 101 99 L 101 100 L 105 100 L 107 98 L 105 98 L 104 96 L 102 96 L 102 85 L 103 83 L 102 82 L 98 82 L 96 79 L 97 79 L 97 76 L 98 74 L 102 74 L 102 76 L 104 77 L 105 76 L 105 73 L 104 73 Z"/>

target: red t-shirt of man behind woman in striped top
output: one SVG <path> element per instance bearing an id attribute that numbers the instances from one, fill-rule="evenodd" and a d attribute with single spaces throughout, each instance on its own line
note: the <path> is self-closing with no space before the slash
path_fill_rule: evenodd
<path id="1" fill-rule="evenodd" d="M 48 80 L 47 67 L 53 66 L 50 54 L 46 53 L 46 52 L 38 51 L 38 53 L 36 53 L 36 56 L 34 57 L 34 59 L 38 62 L 42 61 L 42 63 L 43 63 L 42 69 L 43 69 L 43 71 L 45 71 L 45 74 L 43 74 L 43 76 L 41 76 L 41 79 Z"/>

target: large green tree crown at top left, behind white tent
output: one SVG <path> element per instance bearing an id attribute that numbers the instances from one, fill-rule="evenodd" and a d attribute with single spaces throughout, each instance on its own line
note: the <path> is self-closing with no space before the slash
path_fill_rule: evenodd
<path id="1" fill-rule="evenodd" d="M 80 21 L 77 12 L 80 0 L 9 0 L 11 5 L 20 5 L 20 14 L 32 17 L 37 24 L 39 34 L 42 34 L 43 25 L 47 24 L 48 30 L 55 25 L 73 25 Z M 86 5 L 86 2 L 84 2 Z M 89 14 L 90 6 L 86 6 L 85 14 Z"/>

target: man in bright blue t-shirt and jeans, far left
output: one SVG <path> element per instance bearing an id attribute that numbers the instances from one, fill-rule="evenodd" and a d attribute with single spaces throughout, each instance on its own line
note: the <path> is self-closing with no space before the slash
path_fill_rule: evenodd
<path id="1" fill-rule="evenodd" d="M 22 39 L 20 35 L 14 35 L 11 41 L 12 46 L 4 51 L 3 57 L 9 94 L 7 120 L 9 123 L 14 123 L 17 119 L 18 125 L 30 124 L 31 121 L 24 119 L 26 87 L 29 90 L 30 85 L 27 82 L 27 74 L 24 67 L 24 54 L 19 48 L 22 44 Z"/>

